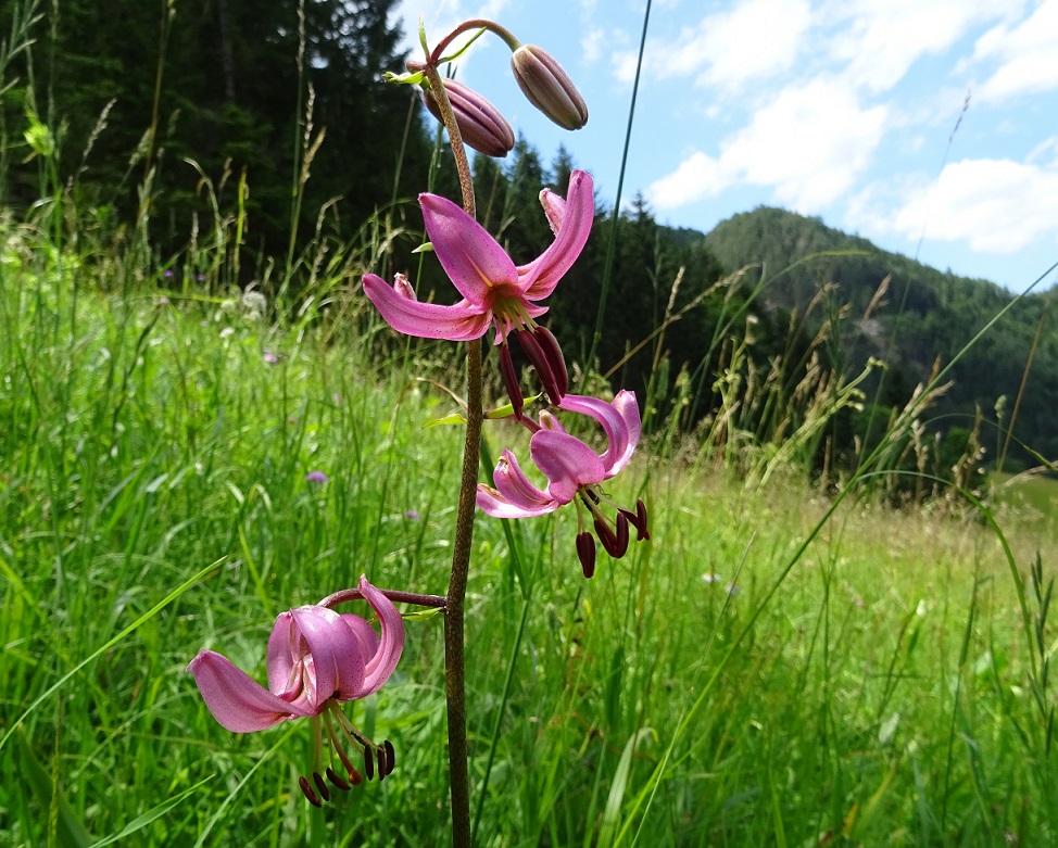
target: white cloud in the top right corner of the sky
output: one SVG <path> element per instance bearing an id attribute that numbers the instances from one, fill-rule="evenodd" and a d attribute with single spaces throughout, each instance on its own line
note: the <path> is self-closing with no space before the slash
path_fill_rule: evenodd
<path id="1" fill-rule="evenodd" d="M 1058 88 L 1058 0 L 1044 0 L 1016 26 L 999 24 L 974 45 L 974 60 L 997 59 L 999 67 L 981 86 L 982 101 L 1004 100 Z"/>

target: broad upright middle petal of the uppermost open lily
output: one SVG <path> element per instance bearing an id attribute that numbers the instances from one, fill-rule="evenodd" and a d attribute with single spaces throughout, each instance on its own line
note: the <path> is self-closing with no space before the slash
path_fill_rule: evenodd
<path id="1" fill-rule="evenodd" d="M 426 235 L 459 294 L 489 308 L 490 292 L 518 282 L 514 262 L 489 232 L 448 198 L 419 194 Z"/>

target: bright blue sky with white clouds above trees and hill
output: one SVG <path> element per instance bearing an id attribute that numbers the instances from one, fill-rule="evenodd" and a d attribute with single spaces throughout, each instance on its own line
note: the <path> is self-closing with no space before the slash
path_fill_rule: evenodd
<path id="1" fill-rule="evenodd" d="M 431 41 L 480 16 L 552 52 L 588 101 L 576 132 L 522 99 L 494 37 L 457 76 L 545 162 L 565 144 L 613 204 L 644 9 L 403 0 L 400 14 L 415 55 L 419 16 Z M 654 0 L 624 200 L 637 191 L 672 226 L 778 205 L 1021 291 L 1058 261 L 1058 0 Z"/>

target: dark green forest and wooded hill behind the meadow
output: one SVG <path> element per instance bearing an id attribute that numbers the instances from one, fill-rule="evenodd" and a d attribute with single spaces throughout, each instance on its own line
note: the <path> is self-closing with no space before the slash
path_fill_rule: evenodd
<path id="1" fill-rule="evenodd" d="M 407 59 L 399 47 L 406 22 L 393 18 L 394 4 L 5 4 L 5 43 L 17 43 L 23 27 L 33 45 L 4 54 L 3 205 L 26 216 L 42 197 L 56 197 L 66 218 L 88 222 L 97 243 L 146 241 L 159 268 L 187 261 L 218 217 L 237 218 L 237 273 L 225 279 L 241 286 L 257 284 L 269 266 L 285 265 L 289 276 L 323 238 L 364 243 L 385 222 L 399 233 L 387 273 L 406 271 L 420 298 L 451 298 L 440 270 L 425 263 L 420 273 L 412 254 L 421 241 L 415 195 L 429 187 L 455 197 L 457 182 L 451 157 L 436 155 L 443 139 L 418 89 L 382 81 Z M 476 156 L 479 218 L 516 262 L 552 238 L 541 188 L 564 193 L 569 172 L 583 164 L 562 149 L 542 154 L 524 138 L 504 160 Z M 727 277 L 743 266 L 755 269 Z M 887 290 L 872 304 L 883 280 Z M 357 284 L 353 273 L 349 286 Z M 995 420 L 1000 395 L 1008 426 L 1031 350 L 1013 432 L 1058 455 L 1053 299 L 1020 300 L 961 355 L 955 384 L 925 414 L 934 432 L 955 432 L 965 447 L 975 412 Z M 596 203 L 589 244 L 544 322 L 581 370 L 641 397 L 648 391 L 657 419 L 685 432 L 708 423 L 726 369 L 751 382 L 778 372 L 793 387 L 814 364 L 852 379 L 868 357 L 884 359 L 865 387 L 865 412 L 845 409 L 831 428 L 831 450 L 848 458 L 857 436 L 869 441 L 871 421 L 884 430 L 934 363 L 950 362 L 1010 300 L 987 281 L 942 274 L 781 210 L 736 215 L 706 237 L 659 226 L 637 197 L 616 219 Z M 765 438 L 763 425 L 742 425 Z M 985 439 L 993 457 L 1000 441 L 996 432 Z M 1010 456 L 1031 461 L 1016 444 Z"/>

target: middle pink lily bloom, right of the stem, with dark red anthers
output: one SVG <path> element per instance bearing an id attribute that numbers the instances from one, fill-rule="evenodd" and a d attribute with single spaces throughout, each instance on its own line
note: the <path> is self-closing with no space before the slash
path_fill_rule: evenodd
<path id="1" fill-rule="evenodd" d="M 530 518 L 553 512 L 576 501 L 579 532 L 577 555 L 584 577 L 595 567 L 595 542 L 584 529 L 584 510 L 591 518 L 595 535 L 612 557 L 619 559 L 628 550 L 629 524 L 635 528 L 637 539 L 650 539 L 646 506 L 635 502 L 635 510 L 613 505 L 601 483 L 620 472 L 628 464 L 640 438 L 639 406 L 632 392 L 619 392 L 613 403 L 595 397 L 567 394 L 558 408 L 594 418 L 603 428 L 608 445 L 602 455 L 563 429 L 547 412 L 540 414 L 540 425 L 526 420 L 533 435 L 529 440 L 529 455 L 544 477 L 547 488 L 538 489 L 526 477 L 518 459 L 503 451 L 492 476 L 493 486 L 478 485 L 478 507 L 493 518 Z M 610 519 L 604 507 L 615 509 Z"/>

